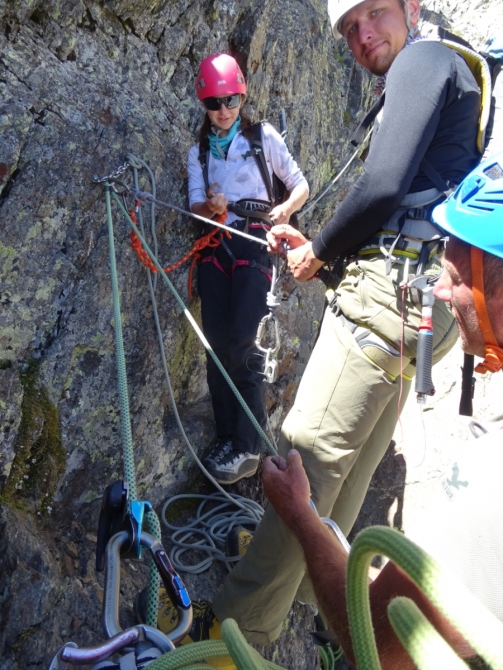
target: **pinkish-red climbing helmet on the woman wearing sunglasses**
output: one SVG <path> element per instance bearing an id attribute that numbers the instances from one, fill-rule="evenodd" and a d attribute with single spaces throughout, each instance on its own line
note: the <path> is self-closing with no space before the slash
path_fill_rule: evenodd
<path id="1" fill-rule="evenodd" d="M 203 60 L 196 79 L 199 100 L 246 94 L 246 81 L 241 68 L 228 54 L 213 54 Z"/>

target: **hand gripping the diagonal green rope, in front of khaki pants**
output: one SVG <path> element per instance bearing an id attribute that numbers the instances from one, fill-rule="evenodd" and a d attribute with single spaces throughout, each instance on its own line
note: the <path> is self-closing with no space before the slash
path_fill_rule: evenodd
<path id="1" fill-rule="evenodd" d="M 265 495 L 287 526 L 298 523 L 302 514 L 310 511 L 309 481 L 295 449 L 288 452 L 286 461 L 280 456 L 266 458 L 262 483 Z"/>

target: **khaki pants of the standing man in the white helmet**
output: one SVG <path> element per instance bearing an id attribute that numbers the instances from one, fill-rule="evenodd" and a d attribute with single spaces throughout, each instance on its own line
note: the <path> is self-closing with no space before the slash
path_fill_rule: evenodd
<path id="1" fill-rule="evenodd" d="M 337 291 L 339 305 L 361 325 L 379 323 L 379 334 L 396 348 L 403 312 L 404 351 L 413 355 L 412 333 L 417 338 L 420 308 L 409 295 L 401 305 L 401 290 L 392 282 L 400 279 L 399 272 L 386 277 L 382 259 L 353 263 Z M 452 316 L 444 303 L 436 301 L 435 362 L 452 348 L 456 337 Z M 410 382 L 402 384 L 403 406 Z M 400 379 L 392 380 L 375 365 L 343 320 L 327 310 L 278 446 L 282 456 L 292 447 L 300 452 L 320 516 L 331 516 L 345 534 L 393 436 L 399 393 Z M 214 600 L 215 614 L 220 621 L 235 619 L 250 642 L 269 644 L 281 632 L 304 573 L 300 546 L 268 505 L 247 553 Z M 306 602 L 309 589 L 304 586 L 299 598 Z"/>

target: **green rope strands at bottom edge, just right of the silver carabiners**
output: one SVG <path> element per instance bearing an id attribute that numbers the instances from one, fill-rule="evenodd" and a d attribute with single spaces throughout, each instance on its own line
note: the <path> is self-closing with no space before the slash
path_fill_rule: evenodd
<path id="1" fill-rule="evenodd" d="M 190 670 L 199 668 L 204 661 L 212 668 L 212 658 L 231 657 L 238 670 L 283 670 L 281 666 L 262 658 L 245 640 L 234 619 L 222 624 L 222 640 L 194 642 L 170 651 L 148 667 L 149 670 Z M 229 665 L 231 661 L 229 659 Z"/>

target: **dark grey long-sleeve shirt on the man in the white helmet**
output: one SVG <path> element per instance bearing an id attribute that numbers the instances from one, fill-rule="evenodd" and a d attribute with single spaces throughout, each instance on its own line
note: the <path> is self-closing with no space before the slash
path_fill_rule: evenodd
<path id="1" fill-rule="evenodd" d="M 386 80 L 382 118 L 364 172 L 313 240 L 330 261 L 380 230 L 407 193 L 432 188 L 423 158 L 451 184 L 480 160 L 476 138 L 480 91 L 463 58 L 439 42 L 404 48 Z"/>

